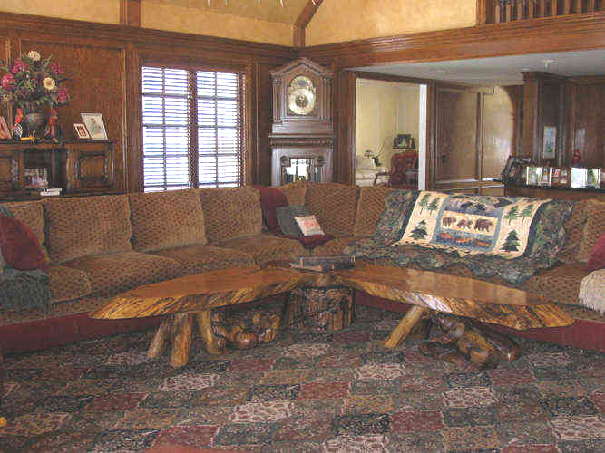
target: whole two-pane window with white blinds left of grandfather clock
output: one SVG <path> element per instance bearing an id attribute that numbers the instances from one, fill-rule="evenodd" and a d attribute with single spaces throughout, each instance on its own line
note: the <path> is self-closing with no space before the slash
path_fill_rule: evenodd
<path id="1" fill-rule="evenodd" d="M 242 184 L 243 77 L 143 66 L 146 192 Z"/>

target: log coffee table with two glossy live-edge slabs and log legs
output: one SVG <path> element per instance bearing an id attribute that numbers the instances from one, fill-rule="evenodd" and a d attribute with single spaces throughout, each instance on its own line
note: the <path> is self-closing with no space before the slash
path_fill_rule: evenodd
<path id="1" fill-rule="evenodd" d="M 454 275 L 358 263 L 352 269 L 326 273 L 278 265 L 189 275 L 120 294 L 91 316 L 120 319 L 169 315 L 161 323 L 149 353 L 152 357 L 160 355 L 172 337 L 171 365 L 180 367 L 189 360 L 194 320 L 207 351 L 222 352 L 212 333 L 211 309 L 319 285 L 346 286 L 412 304 L 385 340 L 387 348 L 395 348 L 405 340 L 415 324 L 429 312 L 449 313 L 517 330 L 562 327 L 574 322 L 567 313 L 537 294 Z"/>

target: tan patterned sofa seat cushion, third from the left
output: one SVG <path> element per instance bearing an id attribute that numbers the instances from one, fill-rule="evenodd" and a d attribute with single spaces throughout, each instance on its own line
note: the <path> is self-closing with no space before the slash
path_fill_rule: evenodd
<path id="1" fill-rule="evenodd" d="M 171 258 L 181 264 L 181 275 L 229 269 L 229 267 L 253 267 L 254 259 L 239 250 L 212 246 L 184 246 L 153 252 L 153 255 Z"/>

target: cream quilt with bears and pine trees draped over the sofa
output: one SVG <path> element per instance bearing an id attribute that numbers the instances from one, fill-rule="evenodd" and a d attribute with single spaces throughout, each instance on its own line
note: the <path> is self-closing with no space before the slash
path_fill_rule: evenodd
<path id="1" fill-rule="evenodd" d="M 549 201 L 422 191 L 395 244 L 516 258 L 527 248 L 533 217 Z"/>

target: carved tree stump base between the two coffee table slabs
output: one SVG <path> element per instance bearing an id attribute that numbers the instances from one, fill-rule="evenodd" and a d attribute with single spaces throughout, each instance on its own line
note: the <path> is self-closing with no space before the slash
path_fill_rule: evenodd
<path id="1" fill-rule="evenodd" d="M 291 329 L 342 330 L 355 320 L 353 290 L 340 285 L 294 289 L 288 294 L 284 320 Z"/>

